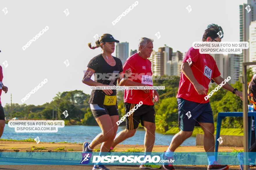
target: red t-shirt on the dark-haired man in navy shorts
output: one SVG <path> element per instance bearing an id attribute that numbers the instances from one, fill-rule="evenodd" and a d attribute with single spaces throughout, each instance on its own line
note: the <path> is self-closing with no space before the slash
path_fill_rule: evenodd
<path id="1" fill-rule="evenodd" d="M 208 85 L 211 81 L 211 78 L 215 78 L 221 75 L 214 58 L 209 54 L 200 54 L 199 49 L 194 49 L 193 47 L 191 47 L 189 51 L 186 52 L 182 63 L 191 61 L 191 70 L 193 72 L 193 75 L 195 76 L 195 79 L 200 85 L 204 86 L 207 89 L 208 94 Z M 205 101 L 205 96 L 205 94 L 199 95 L 198 92 L 195 90 L 194 85 L 189 81 L 184 73 L 181 72 L 179 89 L 176 97 L 181 97 L 185 100 L 197 103 L 208 103 L 209 99 Z"/>

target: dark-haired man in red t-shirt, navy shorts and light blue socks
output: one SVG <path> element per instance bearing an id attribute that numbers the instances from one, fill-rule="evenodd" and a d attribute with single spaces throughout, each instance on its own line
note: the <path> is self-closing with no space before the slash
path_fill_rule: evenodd
<path id="1" fill-rule="evenodd" d="M 222 36 L 217 33 L 223 30 L 216 24 L 207 26 L 203 34 L 202 41 L 221 42 Z M 179 114 L 179 129 L 180 131 L 172 138 L 167 151 L 162 154 L 164 160 L 173 159 L 173 152 L 179 147 L 184 140 L 189 138 L 195 126 L 200 125 L 204 131 L 204 149 L 208 158 L 208 170 L 218 169 L 226 170 L 228 165 L 219 164 L 214 157 L 214 121 L 209 98 L 207 96 L 208 85 L 213 79 L 218 85 L 224 79 L 218 70 L 214 58 L 209 54 L 200 54 L 199 49 L 191 47 L 181 65 L 181 77 L 179 81 L 179 89 L 177 93 L 177 104 Z M 222 86 L 233 94 L 242 99 L 242 92 L 233 88 L 228 83 Z M 219 92 L 221 93 L 221 92 Z M 164 169 L 173 170 L 172 163 L 163 163 Z"/>

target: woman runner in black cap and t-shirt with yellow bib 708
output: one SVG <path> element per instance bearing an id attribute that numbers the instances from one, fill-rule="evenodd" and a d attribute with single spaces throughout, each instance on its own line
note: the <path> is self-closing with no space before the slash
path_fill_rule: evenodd
<path id="1" fill-rule="evenodd" d="M 126 70 L 126 76 L 121 76 L 122 79 L 120 78 L 120 73 L 123 72 L 122 62 L 111 55 L 115 50 L 115 42 L 118 43 L 119 41 L 115 40 L 111 34 L 103 34 L 96 41 L 96 47 L 92 47 L 91 43 L 88 43 L 91 49 L 101 47 L 102 54 L 93 57 L 88 63 L 83 83 L 89 86 L 115 86 L 116 83 L 120 86 L 125 85 L 127 78 L 131 75 L 131 69 Z M 94 81 L 91 80 L 93 74 Z M 93 89 L 89 103 L 102 133 L 98 134 L 92 142 L 83 143 L 83 153 L 92 152 L 94 147 L 100 143 L 102 143 L 100 152 L 109 152 L 118 129 L 116 124 L 119 120 L 116 90 Z M 104 165 L 95 164 L 93 170 L 97 169 L 108 170 Z"/>

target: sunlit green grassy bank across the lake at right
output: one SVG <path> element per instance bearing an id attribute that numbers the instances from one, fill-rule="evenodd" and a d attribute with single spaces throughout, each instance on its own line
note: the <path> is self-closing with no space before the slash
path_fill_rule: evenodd
<path id="1" fill-rule="evenodd" d="M 176 134 L 178 133 L 179 127 L 173 127 L 171 129 L 169 129 L 166 133 L 162 133 L 159 132 L 161 134 Z M 203 134 L 204 131 L 202 130 L 201 127 L 195 127 L 192 136 L 196 136 L 196 134 Z M 214 134 L 216 134 L 216 128 L 215 128 L 215 132 Z M 221 135 L 237 135 L 237 136 L 243 136 L 243 129 L 240 128 L 221 128 Z"/>

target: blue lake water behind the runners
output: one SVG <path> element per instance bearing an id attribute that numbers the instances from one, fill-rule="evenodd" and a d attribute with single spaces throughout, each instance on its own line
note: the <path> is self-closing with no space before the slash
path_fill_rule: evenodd
<path id="1" fill-rule="evenodd" d="M 118 132 L 125 129 L 125 127 L 118 127 Z M 4 132 L 2 139 L 16 139 L 22 140 L 27 138 L 35 139 L 39 137 L 41 142 L 77 142 L 83 143 L 85 141 L 91 142 L 93 138 L 101 132 L 99 126 L 81 126 L 81 125 L 72 125 L 65 126 L 63 128 L 58 128 L 56 133 L 17 133 L 14 128 L 8 127 L 8 124 L 5 124 Z M 143 145 L 144 144 L 145 130 L 138 129 L 136 134 L 126 139 L 120 144 L 128 145 Z M 173 135 L 169 134 L 160 134 L 156 132 L 155 145 L 169 145 Z M 190 137 L 182 143 L 182 146 L 195 146 L 195 137 Z"/>

